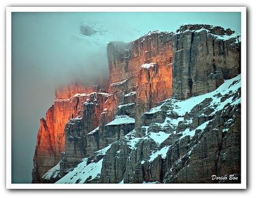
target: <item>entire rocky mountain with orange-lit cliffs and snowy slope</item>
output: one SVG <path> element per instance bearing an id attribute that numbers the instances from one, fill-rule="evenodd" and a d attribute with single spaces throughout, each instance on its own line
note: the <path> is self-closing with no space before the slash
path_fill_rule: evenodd
<path id="1" fill-rule="evenodd" d="M 240 182 L 238 33 L 184 25 L 110 42 L 107 56 L 109 83 L 56 90 L 33 183 Z"/>

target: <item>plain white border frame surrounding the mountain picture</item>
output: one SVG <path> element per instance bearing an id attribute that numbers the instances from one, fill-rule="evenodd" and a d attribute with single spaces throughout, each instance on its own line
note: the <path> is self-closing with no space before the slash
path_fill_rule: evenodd
<path id="1" fill-rule="evenodd" d="M 241 13 L 241 184 L 12 184 L 12 12 L 240 12 Z M 247 19 L 246 7 L 6 7 L 6 188 L 7 189 L 246 189 Z"/>

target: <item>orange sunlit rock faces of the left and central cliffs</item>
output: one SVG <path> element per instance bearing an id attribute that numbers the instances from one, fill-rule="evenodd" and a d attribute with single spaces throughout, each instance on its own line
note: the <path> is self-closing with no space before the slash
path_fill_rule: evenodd
<path id="1" fill-rule="evenodd" d="M 107 53 L 110 77 L 102 83 L 105 90 L 109 87 L 109 95 L 97 98 L 99 106 L 88 110 L 90 118 L 85 121 L 87 128 L 83 128 L 83 131 L 109 123 L 116 115 L 117 106 L 124 100 L 137 104 L 136 109 L 132 107 L 134 109 L 130 115 L 137 119 L 141 113 L 172 94 L 173 51 L 169 34 L 153 32 L 131 43 L 111 42 L 107 46 Z M 141 67 L 144 63 L 155 65 Z M 41 119 L 40 122 L 33 182 L 40 182 L 42 175 L 61 160 L 61 152 L 65 150 L 64 128 L 67 121 L 72 117 L 82 116 L 86 111 L 82 108 L 82 103 L 89 96 L 76 94 L 104 92 L 104 87 L 73 83 L 56 90 L 56 100 L 47 111 L 46 120 Z M 135 94 L 124 99 L 124 95 L 131 92 Z M 78 156 L 78 160 L 80 157 Z"/>

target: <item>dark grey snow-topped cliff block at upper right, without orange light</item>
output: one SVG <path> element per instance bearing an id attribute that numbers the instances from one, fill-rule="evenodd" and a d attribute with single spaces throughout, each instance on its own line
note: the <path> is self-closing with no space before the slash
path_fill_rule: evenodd
<path id="1" fill-rule="evenodd" d="M 178 99 L 213 91 L 240 73 L 240 44 L 230 29 L 183 26 L 172 43 L 173 96 Z"/>

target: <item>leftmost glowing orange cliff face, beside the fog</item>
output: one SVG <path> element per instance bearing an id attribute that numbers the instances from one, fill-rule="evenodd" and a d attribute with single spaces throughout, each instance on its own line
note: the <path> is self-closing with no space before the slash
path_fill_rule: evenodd
<path id="1" fill-rule="evenodd" d="M 90 98 L 90 95 L 84 92 L 91 93 L 101 89 L 100 86 L 70 85 L 56 90 L 56 99 L 47 110 L 46 119 L 40 119 L 32 182 L 41 182 L 43 174 L 62 159 L 61 153 L 65 150 L 64 128 L 70 118 L 83 115 L 83 103 Z M 100 115 L 100 112 L 95 113 Z M 91 125 L 97 127 L 99 122 L 96 120 Z"/>

